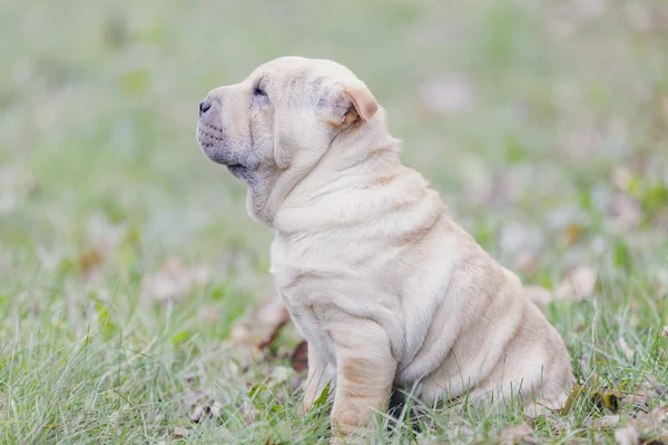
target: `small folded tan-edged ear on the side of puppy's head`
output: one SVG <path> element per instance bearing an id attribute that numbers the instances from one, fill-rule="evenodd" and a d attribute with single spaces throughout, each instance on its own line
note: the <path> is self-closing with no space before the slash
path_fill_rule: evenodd
<path id="1" fill-rule="evenodd" d="M 366 123 L 379 110 L 379 102 L 362 81 L 336 85 L 330 103 L 334 123 L 341 127 Z"/>

